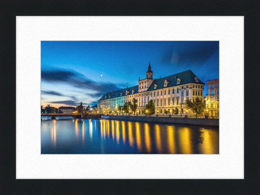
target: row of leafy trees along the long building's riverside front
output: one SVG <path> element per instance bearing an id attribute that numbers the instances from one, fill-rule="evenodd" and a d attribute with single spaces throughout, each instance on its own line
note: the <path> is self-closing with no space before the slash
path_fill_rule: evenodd
<path id="1" fill-rule="evenodd" d="M 136 114 L 136 110 L 138 108 L 137 105 L 138 100 L 136 98 L 133 99 L 132 102 L 126 102 L 124 105 L 118 107 L 118 112 L 123 112 L 128 114 L 130 112 L 130 109 L 134 114 Z M 197 97 L 195 101 L 191 101 L 191 99 L 186 100 L 186 105 L 187 108 L 190 109 L 192 112 L 196 113 L 196 118 L 198 117 L 198 114 L 202 114 L 206 105 L 202 100 Z M 117 112 L 117 111 L 116 111 Z M 110 111 L 112 113 L 112 111 Z M 145 105 L 143 109 L 143 113 L 148 114 L 148 115 L 154 115 L 155 114 L 155 103 L 151 99 L 148 101 L 148 103 Z M 168 111 L 165 111 L 165 114 L 168 114 Z M 179 114 L 179 109 L 176 107 L 173 109 L 173 114 L 178 115 Z"/>

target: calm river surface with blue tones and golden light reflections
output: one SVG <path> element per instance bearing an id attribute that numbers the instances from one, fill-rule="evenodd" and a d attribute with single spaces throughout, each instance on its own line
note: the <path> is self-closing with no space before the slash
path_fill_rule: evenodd
<path id="1" fill-rule="evenodd" d="M 219 154 L 219 128 L 41 118 L 41 154 Z"/>

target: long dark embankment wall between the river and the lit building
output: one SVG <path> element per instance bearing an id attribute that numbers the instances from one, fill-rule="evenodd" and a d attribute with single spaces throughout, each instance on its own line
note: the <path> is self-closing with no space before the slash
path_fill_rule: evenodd
<path id="1" fill-rule="evenodd" d="M 219 119 L 205 118 L 175 118 L 175 117 L 137 117 L 137 116 L 116 116 L 116 115 L 101 115 L 100 118 L 111 120 L 125 121 L 142 121 L 142 122 L 157 122 L 166 124 L 193 125 L 206 127 L 219 127 Z"/>

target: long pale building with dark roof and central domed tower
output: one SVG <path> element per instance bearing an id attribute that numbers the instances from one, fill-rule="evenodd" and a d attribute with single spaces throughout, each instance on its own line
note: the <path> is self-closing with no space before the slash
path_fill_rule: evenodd
<path id="1" fill-rule="evenodd" d="M 204 101 L 204 83 L 191 70 L 170 75 L 164 78 L 154 78 L 149 62 L 146 77 L 138 80 L 138 85 L 127 87 L 117 91 L 106 92 L 98 100 L 100 113 L 115 112 L 118 106 L 125 102 L 138 100 L 138 113 L 142 114 L 145 104 L 153 100 L 156 105 L 156 113 L 163 115 L 165 111 L 173 112 L 178 107 L 179 113 L 191 115 L 186 108 L 186 99 L 194 100 L 199 97 Z M 180 104 L 180 103 L 183 104 Z"/>

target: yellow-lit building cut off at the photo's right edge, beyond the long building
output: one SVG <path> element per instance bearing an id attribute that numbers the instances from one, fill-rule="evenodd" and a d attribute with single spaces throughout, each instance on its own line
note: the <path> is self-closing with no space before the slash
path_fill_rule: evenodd
<path id="1" fill-rule="evenodd" d="M 208 80 L 208 94 L 205 96 L 206 110 L 209 116 L 220 115 L 220 79 Z"/>

